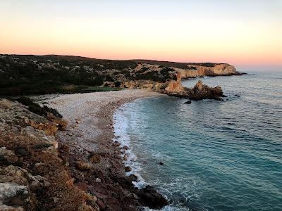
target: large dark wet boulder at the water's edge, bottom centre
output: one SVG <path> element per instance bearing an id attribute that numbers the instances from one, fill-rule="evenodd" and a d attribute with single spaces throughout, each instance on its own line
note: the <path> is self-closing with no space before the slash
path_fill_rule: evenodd
<path id="1" fill-rule="evenodd" d="M 150 209 L 160 209 L 165 205 L 168 205 L 168 201 L 164 196 L 156 191 L 152 186 L 146 186 L 142 188 L 137 196 L 140 198 L 140 203 L 149 207 Z"/>

